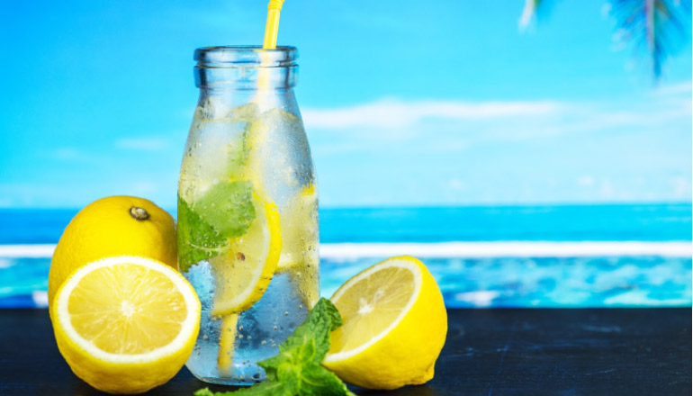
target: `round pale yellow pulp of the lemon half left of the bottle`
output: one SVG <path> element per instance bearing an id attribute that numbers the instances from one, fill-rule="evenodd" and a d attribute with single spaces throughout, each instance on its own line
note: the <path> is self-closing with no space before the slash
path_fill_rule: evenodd
<path id="1" fill-rule="evenodd" d="M 119 355 L 146 354 L 170 344 L 188 313 L 184 295 L 170 279 L 130 264 L 85 275 L 70 294 L 67 311 L 78 335 Z"/>

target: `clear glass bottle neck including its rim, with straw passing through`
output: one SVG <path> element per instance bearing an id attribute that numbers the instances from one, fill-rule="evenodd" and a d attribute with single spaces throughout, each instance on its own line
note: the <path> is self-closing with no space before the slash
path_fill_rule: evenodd
<path id="1" fill-rule="evenodd" d="M 298 51 L 293 47 L 196 49 L 195 85 L 202 90 L 287 91 L 296 85 Z"/>

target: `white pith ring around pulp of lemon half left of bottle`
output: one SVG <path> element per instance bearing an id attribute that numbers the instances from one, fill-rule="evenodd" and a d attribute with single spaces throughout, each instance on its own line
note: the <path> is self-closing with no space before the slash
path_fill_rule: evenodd
<path id="1" fill-rule="evenodd" d="M 95 269 L 117 264 L 134 264 L 138 266 L 145 266 L 150 270 L 164 273 L 167 275 L 167 278 L 173 284 L 175 284 L 178 291 L 183 294 L 185 305 L 187 307 L 187 316 L 185 317 L 185 320 L 181 322 L 182 330 L 178 333 L 174 340 L 166 346 L 159 347 L 144 354 L 112 354 L 94 346 L 94 343 L 80 336 L 72 326 L 72 323 L 69 320 L 70 315 L 67 311 L 67 302 L 76 285 L 79 284 L 79 281 L 81 281 L 85 275 L 89 274 Z M 187 293 L 185 291 L 187 291 Z M 58 321 L 58 326 L 60 326 L 65 332 L 67 339 L 72 341 L 76 347 L 81 348 L 89 356 L 93 356 L 94 358 L 102 360 L 106 363 L 144 364 L 154 362 L 163 357 L 175 355 L 189 343 L 190 338 L 196 338 L 195 329 L 197 320 L 200 317 L 201 306 L 193 286 L 188 284 L 184 277 L 176 272 L 173 268 L 149 258 L 136 256 L 117 256 L 94 261 L 79 268 L 73 275 L 69 276 L 67 281 L 65 281 L 65 283 L 58 289 L 56 296 L 57 298 L 54 302 L 55 315 L 53 316 L 53 319 Z"/>

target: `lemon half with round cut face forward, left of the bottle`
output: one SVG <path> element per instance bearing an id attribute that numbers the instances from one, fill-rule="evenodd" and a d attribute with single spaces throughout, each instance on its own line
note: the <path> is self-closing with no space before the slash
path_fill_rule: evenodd
<path id="1" fill-rule="evenodd" d="M 51 309 L 58 349 L 72 371 L 111 393 L 146 392 L 173 378 L 200 327 L 193 287 L 144 257 L 83 266 L 60 286 Z"/>

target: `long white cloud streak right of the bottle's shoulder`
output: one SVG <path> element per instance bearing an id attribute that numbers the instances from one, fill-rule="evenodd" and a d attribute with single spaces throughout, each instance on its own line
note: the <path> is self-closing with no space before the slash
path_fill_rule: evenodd
<path id="1" fill-rule="evenodd" d="M 554 114 L 563 110 L 562 103 L 536 102 L 463 102 L 417 101 L 404 102 L 383 99 L 338 109 L 302 111 L 303 121 L 309 128 L 345 129 L 359 127 L 401 128 L 426 119 L 487 120 L 505 117 L 533 117 Z"/>

